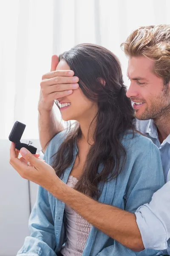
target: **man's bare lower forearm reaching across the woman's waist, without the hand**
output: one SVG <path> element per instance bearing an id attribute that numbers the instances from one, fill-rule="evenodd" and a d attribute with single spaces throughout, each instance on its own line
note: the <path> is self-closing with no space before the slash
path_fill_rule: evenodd
<path id="1" fill-rule="evenodd" d="M 53 195 L 68 204 L 94 227 L 134 251 L 144 249 L 136 216 L 117 207 L 101 204 L 60 182 Z"/>

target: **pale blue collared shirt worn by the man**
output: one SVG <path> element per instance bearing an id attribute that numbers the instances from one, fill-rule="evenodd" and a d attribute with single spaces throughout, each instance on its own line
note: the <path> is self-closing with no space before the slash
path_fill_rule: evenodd
<path id="1" fill-rule="evenodd" d="M 136 221 L 144 247 L 161 250 L 167 248 L 164 253 L 170 255 L 170 135 L 160 143 L 156 125 L 151 119 L 137 120 L 137 128 L 159 148 L 167 183 L 153 194 L 149 204 L 136 210 Z"/>

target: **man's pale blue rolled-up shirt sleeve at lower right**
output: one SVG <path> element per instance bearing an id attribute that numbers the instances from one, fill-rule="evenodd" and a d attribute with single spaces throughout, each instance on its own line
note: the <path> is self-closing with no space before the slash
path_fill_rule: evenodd
<path id="1" fill-rule="evenodd" d="M 170 238 L 170 181 L 153 194 L 149 204 L 139 207 L 135 215 L 144 247 L 166 249 Z"/>

